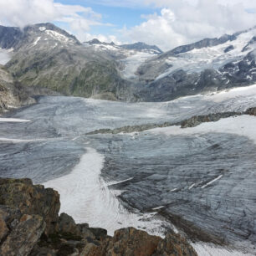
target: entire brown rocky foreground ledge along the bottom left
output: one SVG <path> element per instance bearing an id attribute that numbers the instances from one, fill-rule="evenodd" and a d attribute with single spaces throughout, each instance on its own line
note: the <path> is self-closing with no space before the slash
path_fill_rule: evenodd
<path id="1" fill-rule="evenodd" d="M 162 239 L 121 228 L 110 237 L 103 228 L 75 224 L 66 213 L 59 216 L 59 207 L 59 193 L 51 188 L 0 178 L 0 255 L 197 255 L 180 235 Z"/>

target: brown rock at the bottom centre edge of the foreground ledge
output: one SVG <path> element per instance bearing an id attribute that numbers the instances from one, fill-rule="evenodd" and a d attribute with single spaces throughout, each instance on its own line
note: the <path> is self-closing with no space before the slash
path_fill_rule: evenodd
<path id="1" fill-rule="evenodd" d="M 90 256 L 196 256 L 192 246 L 177 234 L 168 234 L 165 239 L 151 236 L 136 228 L 121 228 L 113 238 L 99 243 L 88 241 L 80 255 Z"/>

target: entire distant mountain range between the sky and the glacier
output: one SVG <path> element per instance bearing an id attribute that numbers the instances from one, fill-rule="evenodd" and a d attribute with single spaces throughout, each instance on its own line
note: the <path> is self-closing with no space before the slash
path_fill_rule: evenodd
<path id="1" fill-rule="evenodd" d="M 2 69 L 28 97 L 165 101 L 256 82 L 256 27 L 163 53 L 144 43 L 82 44 L 52 23 L 0 26 L 0 48 L 11 54 Z"/>

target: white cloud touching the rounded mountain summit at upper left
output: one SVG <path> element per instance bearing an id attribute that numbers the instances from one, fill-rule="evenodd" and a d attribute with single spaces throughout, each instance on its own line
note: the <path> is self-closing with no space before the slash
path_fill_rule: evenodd
<path id="1" fill-rule="evenodd" d="M 54 0 L 1 0 L 0 19 L 3 25 L 20 28 L 33 23 L 66 23 L 75 34 L 90 31 L 91 26 L 110 25 L 101 23 L 101 14 L 92 8 L 55 3 Z"/>

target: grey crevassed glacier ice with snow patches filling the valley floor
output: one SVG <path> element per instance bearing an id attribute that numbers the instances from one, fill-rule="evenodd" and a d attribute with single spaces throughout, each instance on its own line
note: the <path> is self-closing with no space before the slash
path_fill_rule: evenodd
<path id="1" fill-rule="evenodd" d="M 162 234 L 173 223 L 192 240 L 229 246 L 195 243 L 200 255 L 253 254 L 255 117 L 88 135 L 253 106 L 256 85 L 164 103 L 42 97 L 1 117 L 0 173 L 56 188 L 61 211 L 110 233 L 135 226 Z"/>

